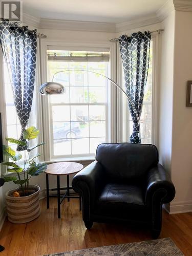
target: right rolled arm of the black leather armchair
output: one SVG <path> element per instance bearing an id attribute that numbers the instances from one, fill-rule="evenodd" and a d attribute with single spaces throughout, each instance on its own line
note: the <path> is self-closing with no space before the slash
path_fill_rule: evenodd
<path id="1" fill-rule="evenodd" d="M 146 205 L 152 203 L 154 195 L 161 203 L 169 203 L 175 197 L 174 184 L 161 164 L 150 169 L 147 174 L 145 193 Z"/>

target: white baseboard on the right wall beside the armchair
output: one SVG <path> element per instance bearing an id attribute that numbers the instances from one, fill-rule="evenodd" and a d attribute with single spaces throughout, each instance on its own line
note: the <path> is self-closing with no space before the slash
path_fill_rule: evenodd
<path id="1" fill-rule="evenodd" d="M 183 214 L 184 212 L 192 212 L 192 201 L 173 202 L 164 204 L 163 208 L 169 214 Z"/>

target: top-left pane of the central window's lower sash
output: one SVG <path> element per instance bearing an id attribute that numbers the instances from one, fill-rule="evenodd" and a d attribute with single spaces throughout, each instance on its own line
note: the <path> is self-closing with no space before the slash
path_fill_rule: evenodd
<path id="1" fill-rule="evenodd" d="M 70 121 L 69 106 L 52 106 L 53 121 Z"/>

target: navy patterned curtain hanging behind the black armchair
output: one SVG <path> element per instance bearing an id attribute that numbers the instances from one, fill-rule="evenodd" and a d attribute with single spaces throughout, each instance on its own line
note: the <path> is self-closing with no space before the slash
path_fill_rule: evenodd
<path id="1" fill-rule="evenodd" d="M 150 42 L 151 33 L 149 31 L 133 33 L 130 37 L 122 35 L 119 39 L 126 93 L 131 98 L 139 118 L 142 112 L 144 88 L 148 75 Z M 133 120 L 133 133 L 130 141 L 141 143 L 138 136 L 139 124 L 130 103 L 129 108 Z"/>

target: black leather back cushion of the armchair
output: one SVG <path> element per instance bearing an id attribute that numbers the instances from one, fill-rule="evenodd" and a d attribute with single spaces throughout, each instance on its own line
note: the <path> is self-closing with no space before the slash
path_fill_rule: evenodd
<path id="1" fill-rule="evenodd" d="M 151 144 L 100 144 L 96 160 L 113 181 L 141 180 L 147 170 L 158 164 L 158 151 Z"/>

